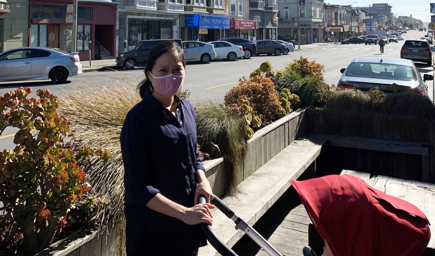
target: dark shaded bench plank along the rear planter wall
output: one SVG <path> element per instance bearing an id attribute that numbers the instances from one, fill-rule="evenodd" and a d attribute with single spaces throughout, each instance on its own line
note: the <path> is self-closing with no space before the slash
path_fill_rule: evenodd
<path id="1" fill-rule="evenodd" d="M 372 138 L 345 137 L 321 133 L 308 133 L 305 136 L 328 139 L 329 145 L 331 146 L 360 148 L 375 151 L 388 151 L 404 154 L 428 155 L 428 144 L 423 143 L 391 141 Z"/>

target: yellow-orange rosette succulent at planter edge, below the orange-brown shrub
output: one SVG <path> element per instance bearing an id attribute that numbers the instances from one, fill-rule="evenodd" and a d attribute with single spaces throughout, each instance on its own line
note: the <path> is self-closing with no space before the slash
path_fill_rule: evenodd
<path id="1" fill-rule="evenodd" d="M 243 118 L 246 125 L 246 131 L 249 137 L 254 135 L 253 128 L 259 128 L 261 126 L 261 116 L 255 115 L 253 108 L 251 107 L 248 97 L 241 95 L 237 99 L 237 103 L 225 107 L 231 114 L 239 115 Z"/>

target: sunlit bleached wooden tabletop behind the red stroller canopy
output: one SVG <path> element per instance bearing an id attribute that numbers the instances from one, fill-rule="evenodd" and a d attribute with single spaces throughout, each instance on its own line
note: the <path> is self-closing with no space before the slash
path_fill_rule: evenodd
<path id="1" fill-rule="evenodd" d="M 369 174 L 355 171 L 343 171 L 343 173 L 360 177 L 371 187 L 412 203 L 425 213 L 430 223 L 435 222 L 435 193 L 433 193 L 435 191 L 435 184 L 408 181 L 383 175 L 370 179 L 367 178 Z M 432 226 L 429 227 L 431 228 L 431 233 L 433 233 Z M 435 236 L 431 237 L 428 248 L 435 248 Z"/>

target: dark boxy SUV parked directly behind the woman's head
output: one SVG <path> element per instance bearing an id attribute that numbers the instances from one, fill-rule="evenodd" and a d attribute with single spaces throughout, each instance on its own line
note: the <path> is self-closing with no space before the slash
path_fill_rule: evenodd
<path id="1" fill-rule="evenodd" d="M 159 43 L 174 41 L 178 43 L 181 48 L 181 39 L 157 39 L 157 40 L 142 40 L 131 51 L 120 52 L 116 58 L 116 66 L 124 67 L 126 69 L 134 69 L 136 66 L 144 66 L 147 64 L 148 55 L 151 49 Z"/>

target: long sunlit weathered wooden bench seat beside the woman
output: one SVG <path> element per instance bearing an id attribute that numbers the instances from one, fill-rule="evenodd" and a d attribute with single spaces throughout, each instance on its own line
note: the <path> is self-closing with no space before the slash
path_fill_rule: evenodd
<path id="1" fill-rule="evenodd" d="M 238 185 L 241 191 L 237 197 L 226 197 L 224 203 L 250 225 L 258 219 L 291 186 L 290 181 L 297 179 L 316 160 L 327 140 L 323 138 L 296 139 L 274 158 L 264 164 L 254 174 Z M 244 232 L 235 230 L 234 222 L 218 209 L 212 210 L 213 230 L 228 246 L 232 247 Z M 209 244 L 199 249 L 200 256 L 214 256 L 217 251 Z"/>

